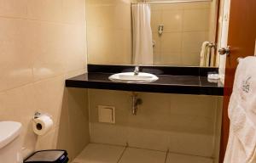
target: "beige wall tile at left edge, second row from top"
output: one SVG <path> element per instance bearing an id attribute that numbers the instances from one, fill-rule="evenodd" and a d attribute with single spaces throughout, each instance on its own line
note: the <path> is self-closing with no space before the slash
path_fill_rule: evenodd
<path id="1" fill-rule="evenodd" d="M 27 21 L 0 18 L 0 91 L 32 82 L 32 56 L 28 53 Z"/>

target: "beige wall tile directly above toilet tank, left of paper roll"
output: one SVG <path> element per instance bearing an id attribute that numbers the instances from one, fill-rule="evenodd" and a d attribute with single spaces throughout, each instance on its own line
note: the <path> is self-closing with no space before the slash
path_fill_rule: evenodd
<path id="1" fill-rule="evenodd" d="M 32 85 L 18 87 L 0 94 L 0 120 L 22 123 L 20 137 L 24 147 L 30 153 L 35 149 L 37 142 L 37 137 L 32 132 L 32 116 L 36 111 L 32 97 Z"/>

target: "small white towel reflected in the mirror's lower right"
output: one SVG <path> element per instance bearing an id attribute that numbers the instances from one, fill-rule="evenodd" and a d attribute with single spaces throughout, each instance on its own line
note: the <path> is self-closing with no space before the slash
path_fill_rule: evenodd
<path id="1" fill-rule="evenodd" d="M 200 66 L 201 67 L 209 67 L 210 65 L 210 42 L 203 42 L 201 45 L 201 53 L 200 53 Z"/>

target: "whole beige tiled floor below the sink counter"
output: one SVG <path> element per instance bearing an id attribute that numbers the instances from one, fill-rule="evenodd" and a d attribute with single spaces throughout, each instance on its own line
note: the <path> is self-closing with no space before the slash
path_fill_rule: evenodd
<path id="1" fill-rule="evenodd" d="M 166 157 L 167 156 L 167 157 Z M 73 163 L 212 163 L 212 159 L 90 143 Z"/>

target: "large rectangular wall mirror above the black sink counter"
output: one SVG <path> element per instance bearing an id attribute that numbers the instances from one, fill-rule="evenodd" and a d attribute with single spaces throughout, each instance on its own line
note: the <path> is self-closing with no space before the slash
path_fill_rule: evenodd
<path id="1" fill-rule="evenodd" d="M 218 0 L 86 0 L 88 62 L 218 67 Z"/>

